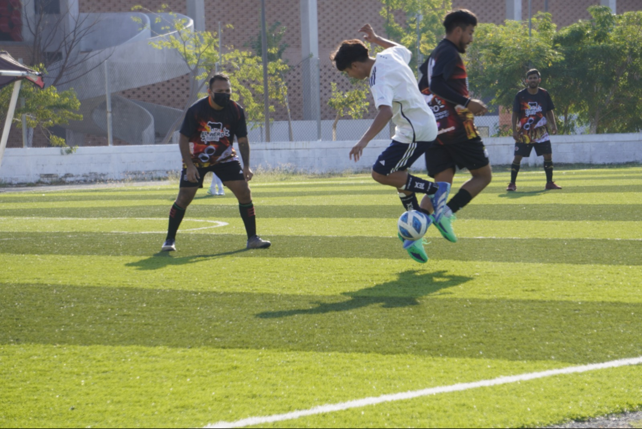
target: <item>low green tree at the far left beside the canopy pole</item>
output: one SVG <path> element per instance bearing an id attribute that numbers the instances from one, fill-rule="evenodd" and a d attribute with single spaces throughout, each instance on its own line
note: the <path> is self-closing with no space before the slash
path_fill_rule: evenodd
<path id="1" fill-rule="evenodd" d="M 0 123 L 3 124 L 12 91 L 13 85 L 7 85 L 0 91 Z M 20 89 L 20 97 L 24 98 L 24 107 L 20 105 L 16 107 L 13 122 L 20 123 L 21 115 L 24 114 L 27 127 L 39 130 L 49 139 L 52 146 L 67 146 L 65 139 L 51 134 L 49 128 L 55 125 L 67 125 L 69 121 L 82 121 L 82 115 L 77 113 L 80 109 L 80 101 L 76 98 L 76 92 L 73 89 L 58 92 L 53 86 L 40 89 L 25 81 Z"/>

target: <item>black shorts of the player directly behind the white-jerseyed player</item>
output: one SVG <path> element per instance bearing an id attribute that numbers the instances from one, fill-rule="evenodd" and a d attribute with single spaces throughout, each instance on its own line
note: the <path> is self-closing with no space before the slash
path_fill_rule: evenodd
<path id="1" fill-rule="evenodd" d="M 479 138 L 459 143 L 433 144 L 426 151 L 426 167 L 430 177 L 449 168 L 477 170 L 488 164 L 488 152 Z"/>

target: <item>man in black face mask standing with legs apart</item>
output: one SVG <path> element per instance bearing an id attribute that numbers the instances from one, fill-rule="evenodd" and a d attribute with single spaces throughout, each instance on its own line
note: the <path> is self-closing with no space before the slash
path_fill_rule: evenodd
<path id="1" fill-rule="evenodd" d="M 180 127 L 178 148 L 183 157 L 178 197 L 169 211 L 169 226 L 165 243 L 160 250 L 176 250 L 176 232 L 187 206 L 192 202 L 208 171 L 223 181 L 239 202 L 239 211 L 247 232 L 247 249 L 266 249 L 270 241 L 256 234 L 256 217 L 248 181 L 250 144 L 243 107 L 230 100 L 232 86 L 226 74 L 219 73 L 209 80 L 209 96 L 196 101 L 188 110 Z M 234 146 L 234 136 L 241 152 L 243 166 Z"/>

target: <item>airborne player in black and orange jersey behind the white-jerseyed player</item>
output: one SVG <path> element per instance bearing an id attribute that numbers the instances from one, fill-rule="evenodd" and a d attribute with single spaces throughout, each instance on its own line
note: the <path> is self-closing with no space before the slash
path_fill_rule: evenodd
<path id="1" fill-rule="evenodd" d="M 467 168 L 472 177 L 447 203 L 435 226 L 449 241 L 457 241 L 451 222 L 454 214 L 480 193 L 492 179 L 490 161 L 473 116 L 487 113 L 480 100 L 470 98 L 464 60 L 460 54 L 473 41 L 477 18 L 473 12 L 458 9 L 444 19 L 446 37 L 439 42 L 420 67 L 419 89 L 437 119 L 437 141 L 426 151 L 428 175 L 435 182 L 453 183 L 456 168 Z M 424 198 L 421 207 L 431 209 Z"/>

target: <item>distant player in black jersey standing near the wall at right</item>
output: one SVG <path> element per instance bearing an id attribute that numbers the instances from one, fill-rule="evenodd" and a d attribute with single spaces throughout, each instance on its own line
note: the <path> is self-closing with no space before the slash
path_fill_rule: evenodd
<path id="1" fill-rule="evenodd" d="M 513 101 L 513 138 L 515 139 L 515 158 L 510 168 L 510 183 L 507 191 L 516 191 L 517 173 L 523 157 L 530 156 L 535 148 L 537 156 L 544 155 L 544 172 L 546 187 L 544 189 L 562 189 L 553 182 L 553 150 L 548 133 L 557 134 L 553 100 L 546 89 L 540 88 L 542 82 L 539 71 L 530 69 L 526 72 L 525 89 L 517 92 Z M 549 128 L 550 127 L 550 128 Z"/>

